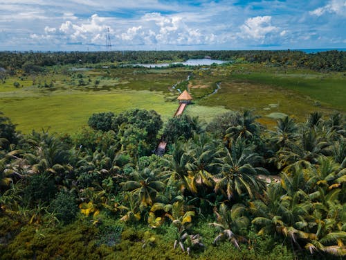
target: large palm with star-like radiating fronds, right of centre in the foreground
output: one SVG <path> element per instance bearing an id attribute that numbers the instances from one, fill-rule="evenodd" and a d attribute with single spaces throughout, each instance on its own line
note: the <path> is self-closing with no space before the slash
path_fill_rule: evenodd
<path id="1" fill-rule="evenodd" d="M 230 150 L 225 149 L 226 157 L 220 160 L 224 164 L 221 173 L 216 175 L 215 191 L 224 193 L 228 200 L 235 199 L 244 191 L 253 198 L 253 193 L 260 191 L 263 182 L 257 179 L 257 174 L 268 174 L 265 168 L 254 167 L 262 157 L 252 152 L 241 138 L 232 141 Z"/>

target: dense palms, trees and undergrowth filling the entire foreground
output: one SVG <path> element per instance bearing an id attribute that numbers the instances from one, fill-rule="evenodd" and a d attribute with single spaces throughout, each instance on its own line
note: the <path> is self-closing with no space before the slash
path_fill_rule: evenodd
<path id="1" fill-rule="evenodd" d="M 345 257 L 345 116 L 256 119 L 128 110 L 69 137 L 0 114 L 0 259 Z"/>

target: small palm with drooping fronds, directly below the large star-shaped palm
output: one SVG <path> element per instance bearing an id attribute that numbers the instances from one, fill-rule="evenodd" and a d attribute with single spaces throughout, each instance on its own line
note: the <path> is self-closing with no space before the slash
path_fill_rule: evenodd
<path id="1" fill-rule="evenodd" d="M 217 227 L 221 231 L 214 239 L 215 245 L 221 239 L 226 239 L 240 250 L 239 242 L 246 242 L 246 239 L 239 234 L 242 233 L 242 229 L 250 224 L 250 220 L 244 216 L 245 211 L 246 207 L 242 204 L 235 204 L 232 209 L 229 209 L 224 203 L 220 205 L 219 212 L 215 210 L 217 223 L 210 223 L 210 225 Z"/>

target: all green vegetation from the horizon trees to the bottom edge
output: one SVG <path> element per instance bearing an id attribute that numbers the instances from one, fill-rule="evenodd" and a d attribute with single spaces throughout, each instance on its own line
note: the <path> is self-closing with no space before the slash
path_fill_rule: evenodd
<path id="1" fill-rule="evenodd" d="M 344 53 L 122 55 L 0 53 L 0 259 L 346 256 Z"/>

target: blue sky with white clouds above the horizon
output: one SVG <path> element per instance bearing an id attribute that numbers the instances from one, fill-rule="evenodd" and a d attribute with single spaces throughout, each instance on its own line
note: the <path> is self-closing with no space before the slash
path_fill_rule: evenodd
<path id="1" fill-rule="evenodd" d="M 0 0 L 0 51 L 346 48 L 346 0 Z"/>

